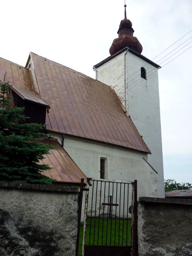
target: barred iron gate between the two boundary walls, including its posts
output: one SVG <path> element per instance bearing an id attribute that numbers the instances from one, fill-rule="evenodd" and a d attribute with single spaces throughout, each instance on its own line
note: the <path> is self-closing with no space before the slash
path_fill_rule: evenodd
<path id="1" fill-rule="evenodd" d="M 80 190 L 76 256 L 83 190 L 86 199 L 81 255 L 137 256 L 137 181 L 88 178 L 86 188 L 81 180 Z"/>

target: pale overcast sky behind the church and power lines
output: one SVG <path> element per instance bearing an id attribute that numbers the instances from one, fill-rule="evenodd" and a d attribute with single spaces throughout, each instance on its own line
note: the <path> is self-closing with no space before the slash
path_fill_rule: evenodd
<path id="1" fill-rule="evenodd" d="M 118 37 L 123 5 L 124 0 L 2 1 L 0 57 L 25 66 L 31 51 L 95 78 L 93 65 L 110 56 L 109 48 Z M 151 60 L 192 30 L 191 0 L 126 0 L 126 5 L 142 55 Z M 192 183 L 191 41 L 192 31 L 153 60 L 162 67 L 164 178 L 180 183 Z"/>

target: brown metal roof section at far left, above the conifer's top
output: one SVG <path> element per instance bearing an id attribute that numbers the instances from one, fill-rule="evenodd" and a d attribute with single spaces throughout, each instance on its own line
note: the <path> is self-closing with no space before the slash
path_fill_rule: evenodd
<path id="1" fill-rule="evenodd" d="M 9 81 L 9 84 L 13 84 L 18 88 L 33 91 L 29 69 L 0 58 L 0 80 L 4 80 L 6 72 L 6 82 Z"/>

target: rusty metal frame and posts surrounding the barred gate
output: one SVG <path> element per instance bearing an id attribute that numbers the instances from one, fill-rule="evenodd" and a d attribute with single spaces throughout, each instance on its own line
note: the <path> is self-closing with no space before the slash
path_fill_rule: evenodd
<path id="1" fill-rule="evenodd" d="M 83 240 L 82 240 L 82 253 L 84 256 L 84 245 L 86 239 L 86 227 L 87 227 L 87 216 L 88 216 L 88 200 L 89 200 L 89 186 L 92 181 L 104 181 L 104 182 L 112 182 L 112 183 L 120 183 L 120 184 L 132 184 L 132 205 L 131 205 L 131 255 L 138 255 L 138 245 L 137 245 L 137 180 L 134 182 L 129 181 L 114 181 L 114 180 L 103 180 L 103 179 L 93 179 L 88 178 L 86 188 L 83 188 L 83 179 L 81 179 L 81 187 L 80 187 L 80 198 L 79 198 L 79 216 L 78 216 L 78 235 L 77 235 L 77 247 L 76 247 L 76 256 L 78 256 L 78 244 L 79 244 L 79 233 L 80 233 L 80 219 L 81 219 L 81 207 L 82 207 L 82 194 L 83 191 L 86 191 L 86 199 L 85 199 L 85 209 L 84 209 L 84 224 L 83 224 Z M 104 246 L 103 246 L 104 247 Z M 109 247 L 109 246 L 105 246 Z M 114 248 L 117 246 L 114 246 Z"/>

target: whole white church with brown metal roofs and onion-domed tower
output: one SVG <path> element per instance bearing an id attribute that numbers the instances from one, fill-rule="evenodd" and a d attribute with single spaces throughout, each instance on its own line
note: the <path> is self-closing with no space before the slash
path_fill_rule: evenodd
<path id="1" fill-rule="evenodd" d="M 163 198 L 160 66 L 141 55 L 126 6 L 117 33 L 96 79 L 32 52 L 25 67 L 0 58 L 0 79 L 7 72 L 13 105 L 47 124 L 45 143 L 58 145 L 42 160 L 52 167 L 45 175 L 61 184 L 138 180 L 138 197 Z"/>

